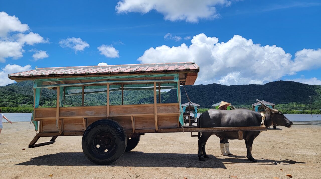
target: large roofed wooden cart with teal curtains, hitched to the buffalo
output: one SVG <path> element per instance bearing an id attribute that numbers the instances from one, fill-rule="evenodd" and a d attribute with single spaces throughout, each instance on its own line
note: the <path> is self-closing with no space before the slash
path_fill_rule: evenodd
<path id="1" fill-rule="evenodd" d="M 39 131 L 29 148 L 53 144 L 59 136 L 82 136 L 85 156 L 96 164 L 116 161 L 136 147 L 140 135 L 161 132 L 265 130 L 264 127 L 184 128 L 180 85 L 193 85 L 199 66 L 192 62 L 37 68 L 9 74 L 16 81 L 34 80 L 32 122 Z M 56 107 L 39 108 L 42 88 L 57 91 Z M 162 89 L 176 89 L 175 103 L 161 103 Z M 151 104 L 124 104 L 124 90 L 153 90 Z M 121 91 L 122 104 L 111 105 L 111 91 Z M 107 93 L 107 104 L 84 106 L 84 96 Z M 64 107 L 66 95 L 81 95 L 82 106 Z M 157 100 L 158 98 L 158 100 Z M 39 125 L 39 126 L 38 126 Z M 36 143 L 40 137 L 52 137 Z"/>

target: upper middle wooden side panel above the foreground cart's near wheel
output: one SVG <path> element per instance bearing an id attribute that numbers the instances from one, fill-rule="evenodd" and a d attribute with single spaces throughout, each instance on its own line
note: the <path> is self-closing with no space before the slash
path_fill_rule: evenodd
<path id="1" fill-rule="evenodd" d="M 153 114 L 154 104 L 113 105 L 109 106 L 109 116 L 132 114 Z"/>

